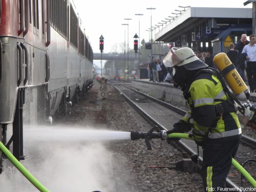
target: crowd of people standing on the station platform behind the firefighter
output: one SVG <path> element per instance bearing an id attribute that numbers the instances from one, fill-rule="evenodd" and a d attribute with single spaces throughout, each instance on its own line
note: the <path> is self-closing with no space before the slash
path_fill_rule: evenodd
<path id="1" fill-rule="evenodd" d="M 239 75 L 247 82 L 250 87 L 250 92 L 256 92 L 256 38 L 255 35 L 250 35 L 247 40 L 247 34 L 242 34 L 241 39 L 235 45 L 229 45 L 230 50 L 227 55 L 230 61 L 235 65 Z M 216 68 L 213 64 L 213 55 L 210 51 L 194 52 L 194 54 L 205 64 Z M 152 60 L 148 65 L 149 81 L 153 82 L 168 82 L 173 81 L 172 67 L 166 67 L 158 57 Z M 245 71 L 247 77 L 245 76 Z"/>

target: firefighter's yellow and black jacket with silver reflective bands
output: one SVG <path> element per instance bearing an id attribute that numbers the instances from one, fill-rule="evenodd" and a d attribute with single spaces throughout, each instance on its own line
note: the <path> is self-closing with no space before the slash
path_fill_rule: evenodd
<path id="1" fill-rule="evenodd" d="M 241 134 L 241 126 L 235 112 L 216 112 L 217 104 L 228 103 L 221 82 L 216 76 L 211 73 L 199 74 L 191 83 L 186 95 L 191 111 L 187 112 L 183 120 L 188 122 L 190 117 L 194 119 L 194 140 L 203 141 L 209 130 L 210 139 Z"/>

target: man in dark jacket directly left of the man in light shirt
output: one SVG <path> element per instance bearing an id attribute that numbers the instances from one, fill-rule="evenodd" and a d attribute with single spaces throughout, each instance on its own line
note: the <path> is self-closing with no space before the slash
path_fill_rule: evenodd
<path id="1" fill-rule="evenodd" d="M 246 58 L 242 55 L 242 50 L 244 49 L 245 45 L 248 45 L 250 43 L 249 40 L 247 40 L 247 34 L 242 34 L 241 40 L 237 43 L 235 46 L 235 49 L 238 51 L 237 55 L 237 71 L 239 75 L 242 77 L 242 79 L 245 81 L 244 78 L 244 69 L 245 69 L 245 61 Z"/>

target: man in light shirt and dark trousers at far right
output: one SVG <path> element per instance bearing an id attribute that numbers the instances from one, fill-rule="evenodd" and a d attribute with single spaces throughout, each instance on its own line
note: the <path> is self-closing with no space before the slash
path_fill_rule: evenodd
<path id="1" fill-rule="evenodd" d="M 247 54 L 247 78 L 250 86 L 250 92 L 256 91 L 256 45 L 255 35 L 250 35 L 250 43 L 244 46 L 242 54 Z"/>

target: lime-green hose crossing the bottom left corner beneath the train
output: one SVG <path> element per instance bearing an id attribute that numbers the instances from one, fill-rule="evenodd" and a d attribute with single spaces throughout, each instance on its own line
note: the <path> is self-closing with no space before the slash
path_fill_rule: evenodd
<path id="1" fill-rule="evenodd" d="M 47 190 L 28 170 L 13 156 L 11 152 L 0 142 L 0 150 L 12 162 L 12 164 L 40 191 L 50 192 Z"/>

